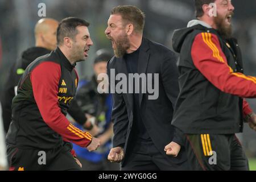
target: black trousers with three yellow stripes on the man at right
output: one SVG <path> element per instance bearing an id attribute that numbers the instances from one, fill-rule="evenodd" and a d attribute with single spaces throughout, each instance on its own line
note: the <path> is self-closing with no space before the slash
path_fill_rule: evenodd
<path id="1" fill-rule="evenodd" d="M 192 170 L 249 170 L 235 134 L 185 134 L 185 148 Z"/>

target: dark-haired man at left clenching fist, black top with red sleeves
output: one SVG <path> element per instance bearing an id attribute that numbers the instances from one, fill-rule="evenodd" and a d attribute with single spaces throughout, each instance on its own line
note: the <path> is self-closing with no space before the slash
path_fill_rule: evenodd
<path id="1" fill-rule="evenodd" d="M 79 81 L 76 62 L 88 56 L 93 44 L 88 26 L 79 18 L 63 19 L 57 28 L 56 50 L 26 68 L 13 99 L 7 133 L 10 169 L 79 170 L 70 142 L 89 151 L 100 146 L 100 140 L 65 117 Z"/>

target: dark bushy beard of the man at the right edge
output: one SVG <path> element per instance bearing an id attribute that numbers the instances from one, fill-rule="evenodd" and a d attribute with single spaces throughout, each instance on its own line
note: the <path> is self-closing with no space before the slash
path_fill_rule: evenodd
<path id="1" fill-rule="evenodd" d="M 220 18 L 220 16 L 214 17 L 214 23 L 217 26 L 217 30 L 224 39 L 229 39 L 232 36 L 232 25 L 226 26 L 225 25 L 225 17 Z"/>

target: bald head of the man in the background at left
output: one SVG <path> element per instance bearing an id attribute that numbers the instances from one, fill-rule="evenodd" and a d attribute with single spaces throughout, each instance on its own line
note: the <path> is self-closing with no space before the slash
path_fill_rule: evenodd
<path id="1" fill-rule="evenodd" d="M 59 22 L 55 19 L 40 19 L 35 26 L 36 47 L 44 47 L 49 50 L 54 50 L 57 44 L 56 31 L 58 25 Z"/>

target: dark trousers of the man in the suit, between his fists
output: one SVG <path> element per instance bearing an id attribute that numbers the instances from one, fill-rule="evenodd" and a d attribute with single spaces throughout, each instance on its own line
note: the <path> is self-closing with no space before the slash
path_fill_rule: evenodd
<path id="1" fill-rule="evenodd" d="M 121 171 L 184 171 L 189 170 L 188 162 L 175 164 L 165 158 L 152 141 L 137 142 L 130 148 L 126 163 Z M 164 148 L 163 148 L 164 150 Z"/>

